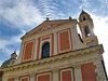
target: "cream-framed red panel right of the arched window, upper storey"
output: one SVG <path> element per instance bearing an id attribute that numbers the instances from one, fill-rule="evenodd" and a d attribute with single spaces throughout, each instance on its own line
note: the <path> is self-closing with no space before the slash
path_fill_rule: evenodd
<path id="1" fill-rule="evenodd" d="M 70 29 L 58 31 L 58 53 L 68 52 L 71 50 Z"/>

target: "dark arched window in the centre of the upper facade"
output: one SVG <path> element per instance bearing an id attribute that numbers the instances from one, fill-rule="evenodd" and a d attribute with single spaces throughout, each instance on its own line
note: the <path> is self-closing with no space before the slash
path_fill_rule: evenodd
<path id="1" fill-rule="evenodd" d="M 50 43 L 46 42 L 42 46 L 42 56 L 41 58 L 50 57 Z"/>

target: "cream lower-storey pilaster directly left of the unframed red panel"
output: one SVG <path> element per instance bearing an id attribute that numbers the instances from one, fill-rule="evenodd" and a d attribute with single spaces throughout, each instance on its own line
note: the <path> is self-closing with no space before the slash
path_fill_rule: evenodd
<path id="1" fill-rule="evenodd" d="M 75 69 L 75 81 L 82 81 L 81 65 L 72 67 Z"/>

